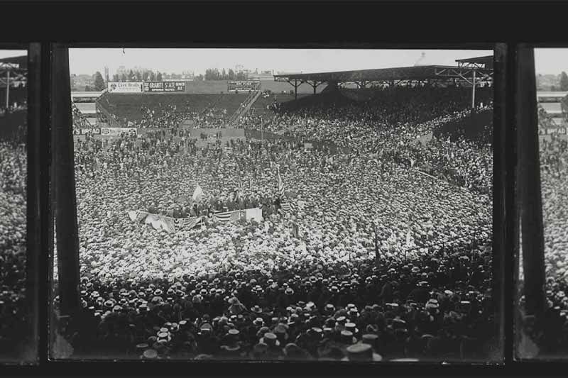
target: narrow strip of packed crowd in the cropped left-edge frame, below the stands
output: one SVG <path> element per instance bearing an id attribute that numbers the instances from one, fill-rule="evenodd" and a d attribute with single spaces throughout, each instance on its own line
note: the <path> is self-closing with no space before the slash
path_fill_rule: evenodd
<path id="1" fill-rule="evenodd" d="M 12 355 L 26 331 L 26 148 L 0 141 L 0 356 Z"/>

